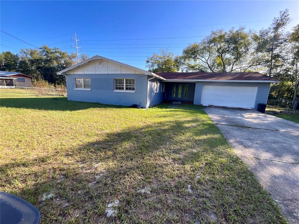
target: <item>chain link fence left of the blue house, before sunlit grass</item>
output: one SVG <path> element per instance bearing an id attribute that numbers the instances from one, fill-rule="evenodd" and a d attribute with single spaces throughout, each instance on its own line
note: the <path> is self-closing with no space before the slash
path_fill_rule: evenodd
<path id="1" fill-rule="evenodd" d="M 0 86 L 1 95 L 15 97 L 30 97 L 30 96 L 67 96 L 66 88 L 35 88 L 35 87 L 7 87 Z"/>

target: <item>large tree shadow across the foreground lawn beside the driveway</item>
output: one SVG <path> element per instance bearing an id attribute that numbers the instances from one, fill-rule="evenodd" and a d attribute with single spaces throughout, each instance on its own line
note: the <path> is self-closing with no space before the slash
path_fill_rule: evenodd
<path id="1" fill-rule="evenodd" d="M 196 116 L 156 122 L 52 152 L 46 162 L 7 163 L 1 173 L 20 175 L 25 185 L 14 192 L 39 207 L 45 223 L 282 223 L 219 133 Z M 144 189 L 150 193 L 140 192 Z M 40 202 L 46 192 L 54 198 Z M 116 199 L 118 214 L 107 218 L 106 206 Z"/>

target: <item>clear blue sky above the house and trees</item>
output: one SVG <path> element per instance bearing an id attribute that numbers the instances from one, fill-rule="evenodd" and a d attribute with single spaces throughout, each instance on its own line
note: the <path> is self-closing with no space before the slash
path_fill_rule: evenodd
<path id="1" fill-rule="evenodd" d="M 286 8 L 293 19 L 287 30 L 299 23 L 299 1 L 1 1 L 0 4 L 1 30 L 32 45 L 45 44 L 75 52 L 70 40 L 76 32 L 81 40 L 79 46 L 89 56 L 98 54 L 139 68 L 145 68 L 147 56 L 158 53 L 160 48 L 168 47 L 180 54 L 187 44 L 203 38 L 189 36 L 206 36 L 211 30 L 239 26 L 248 30 L 266 28 Z M 5 33 L 0 35 L 1 52 L 17 53 L 31 47 Z M 166 37 L 189 38 L 148 39 Z"/>

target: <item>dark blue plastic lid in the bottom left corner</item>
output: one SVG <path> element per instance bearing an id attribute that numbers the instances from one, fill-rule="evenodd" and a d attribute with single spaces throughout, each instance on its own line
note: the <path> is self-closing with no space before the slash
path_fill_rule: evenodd
<path id="1" fill-rule="evenodd" d="M 40 213 L 33 205 L 22 198 L 1 191 L 0 223 L 38 224 L 40 223 Z"/>

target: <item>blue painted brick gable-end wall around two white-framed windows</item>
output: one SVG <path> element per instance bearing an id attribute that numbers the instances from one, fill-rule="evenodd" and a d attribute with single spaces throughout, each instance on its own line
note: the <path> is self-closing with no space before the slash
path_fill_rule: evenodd
<path id="1" fill-rule="evenodd" d="M 146 107 L 147 76 L 137 74 L 67 74 L 68 100 Z M 90 90 L 76 90 L 74 78 L 90 78 Z M 135 93 L 114 92 L 114 79 L 135 79 Z"/>

